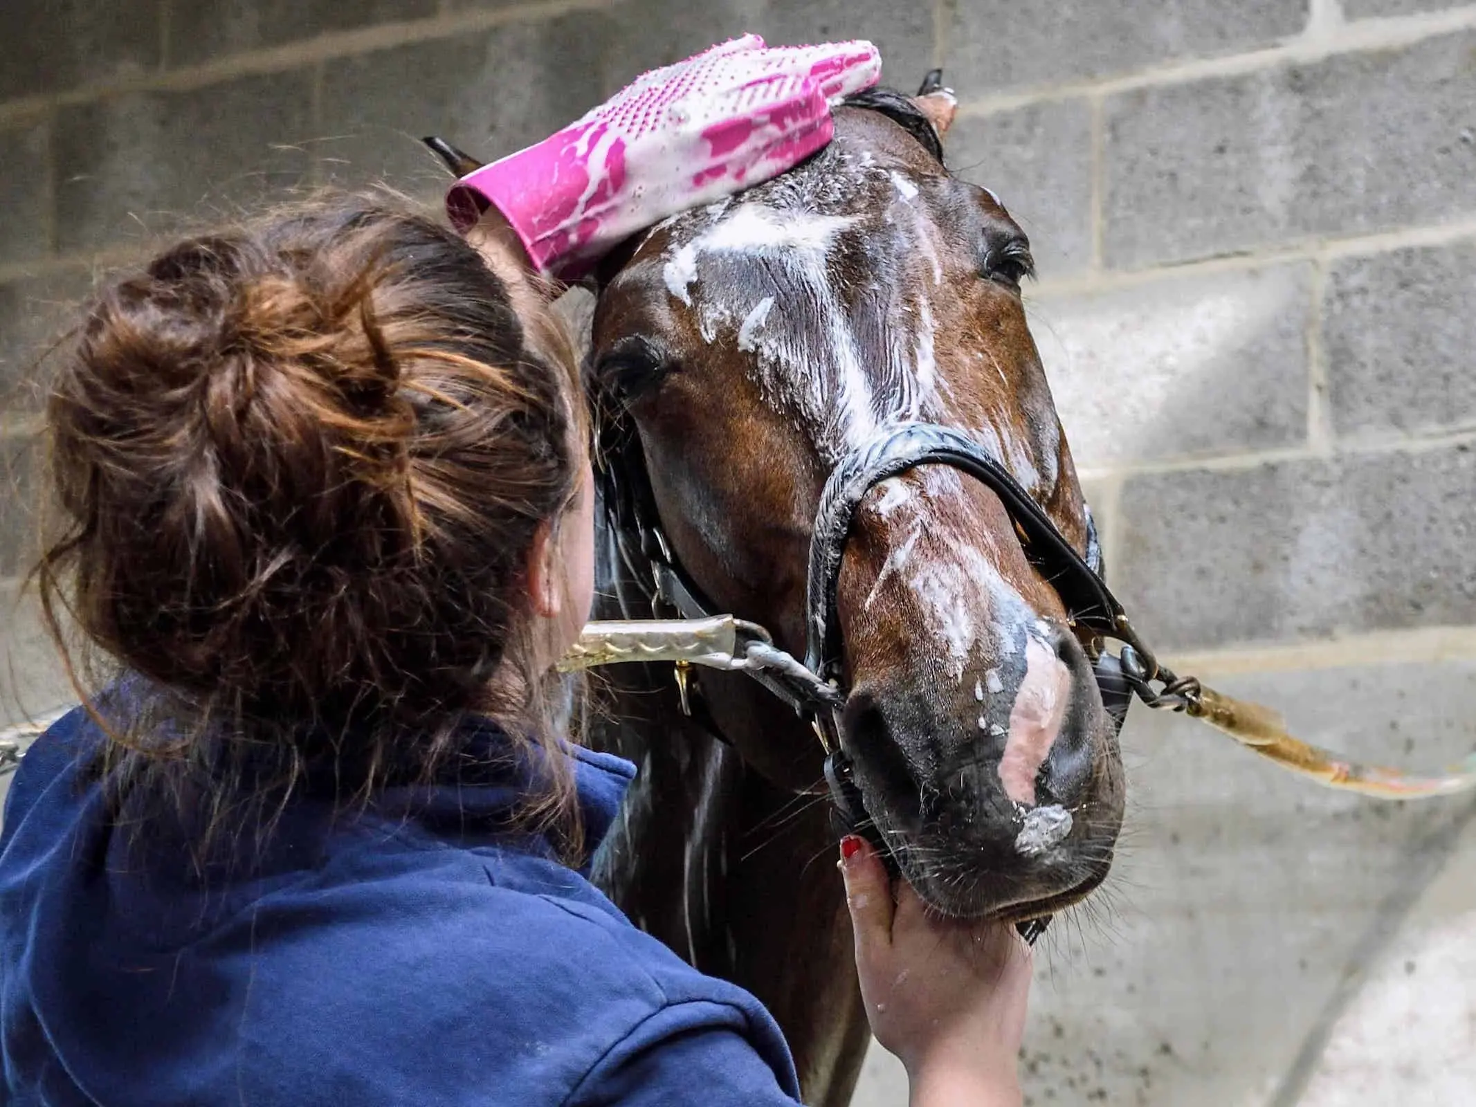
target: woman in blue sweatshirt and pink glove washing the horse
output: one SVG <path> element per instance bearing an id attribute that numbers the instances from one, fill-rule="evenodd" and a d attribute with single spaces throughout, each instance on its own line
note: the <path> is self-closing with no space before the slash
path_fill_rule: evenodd
<path id="1" fill-rule="evenodd" d="M 794 1103 L 757 1001 L 584 878 L 633 766 L 548 703 L 593 493 L 533 270 L 781 171 L 872 80 L 869 47 L 742 40 L 465 182 L 475 249 L 320 201 L 97 295 L 52 388 L 68 528 L 38 577 L 111 677 L 7 803 L 7 1103 Z M 1017 1103 L 1027 951 L 841 853 L 912 1101 Z"/>

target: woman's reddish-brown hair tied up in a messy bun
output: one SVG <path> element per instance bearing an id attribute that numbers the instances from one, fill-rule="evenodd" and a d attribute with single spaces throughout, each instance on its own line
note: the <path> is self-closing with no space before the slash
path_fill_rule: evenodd
<path id="1" fill-rule="evenodd" d="M 279 800 L 323 762 L 363 799 L 428 779 L 472 713 L 558 741 L 518 670 L 523 565 L 584 449 L 555 328 L 382 198 L 189 239 L 96 295 L 50 387 L 63 531 L 37 576 L 58 641 L 65 608 L 139 677 L 125 713 L 83 694 L 112 779 L 221 812 L 261 791 L 248 762 Z M 564 760 L 530 810 L 568 843 Z"/>

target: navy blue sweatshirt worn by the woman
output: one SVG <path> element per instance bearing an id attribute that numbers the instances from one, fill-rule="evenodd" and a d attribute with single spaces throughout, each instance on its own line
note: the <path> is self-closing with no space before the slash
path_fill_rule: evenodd
<path id="1" fill-rule="evenodd" d="M 120 828 L 99 742 L 72 711 L 6 803 L 0 1101 L 794 1104 L 753 996 L 630 925 L 546 840 L 509 837 L 508 759 L 337 818 L 294 794 L 249 865 L 201 872 L 170 819 Z M 598 841 L 635 769 L 570 756 Z"/>

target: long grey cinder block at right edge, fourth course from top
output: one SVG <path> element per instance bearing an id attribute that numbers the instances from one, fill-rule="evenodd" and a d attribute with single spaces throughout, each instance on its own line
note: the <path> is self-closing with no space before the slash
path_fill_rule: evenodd
<path id="1" fill-rule="evenodd" d="M 1472 623 L 1472 489 L 1466 444 L 1132 477 L 1114 582 L 1162 649 Z"/>

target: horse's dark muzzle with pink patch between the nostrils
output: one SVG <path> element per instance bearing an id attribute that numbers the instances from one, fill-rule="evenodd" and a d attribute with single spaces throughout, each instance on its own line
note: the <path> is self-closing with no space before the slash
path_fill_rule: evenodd
<path id="1" fill-rule="evenodd" d="M 1023 652 L 1013 669 L 989 669 L 987 685 L 965 675 L 945 695 L 871 679 L 846 706 L 850 776 L 874 837 L 946 915 L 1046 914 L 1095 887 L 1111 859 L 1123 807 L 1116 720 L 1064 627 Z"/>

